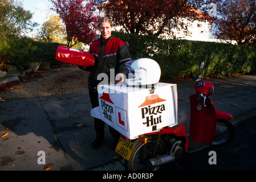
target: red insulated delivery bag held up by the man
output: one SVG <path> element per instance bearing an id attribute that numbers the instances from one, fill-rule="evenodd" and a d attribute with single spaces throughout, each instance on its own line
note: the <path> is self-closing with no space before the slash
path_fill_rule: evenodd
<path id="1" fill-rule="evenodd" d="M 64 63 L 90 67 L 94 65 L 94 55 L 86 51 L 80 51 L 66 46 L 59 46 L 56 52 L 56 60 Z"/>

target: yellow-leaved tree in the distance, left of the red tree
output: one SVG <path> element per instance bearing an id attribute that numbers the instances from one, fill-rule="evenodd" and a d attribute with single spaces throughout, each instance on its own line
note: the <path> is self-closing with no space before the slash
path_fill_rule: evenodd
<path id="1" fill-rule="evenodd" d="M 62 42 L 65 38 L 65 26 L 59 15 L 50 16 L 46 22 L 43 23 L 42 28 L 37 35 L 38 39 L 43 42 Z"/>

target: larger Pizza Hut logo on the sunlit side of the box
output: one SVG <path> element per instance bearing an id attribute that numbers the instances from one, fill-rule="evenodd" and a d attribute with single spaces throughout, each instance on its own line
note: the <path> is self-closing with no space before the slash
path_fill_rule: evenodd
<path id="1" fill-rule="evenodd" d="M 166 100 L 159 97 L 158 94 L 147 96 L 141 107 L 141 118 L 144 119 L 143 125 L 152 126 L 152 131 L 156 130 L 156 125 L 162 122 L 162 112 L 165 111 L 165 105 L 161 102 Z M 160 103 L 160 104 L 159 104 Z M 139 108 L 138 107 L 138 108 Z"/>

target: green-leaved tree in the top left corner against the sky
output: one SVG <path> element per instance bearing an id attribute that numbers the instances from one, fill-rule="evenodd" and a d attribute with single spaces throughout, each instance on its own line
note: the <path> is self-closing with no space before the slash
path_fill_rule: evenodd
<path id="1" fill-rule="evenodd" d="M 22 34 L 36 26 L 31 18 L 32 13 L 23 9 L 21 3 L 0 0 L 0 37 L 21 38 Z"/>

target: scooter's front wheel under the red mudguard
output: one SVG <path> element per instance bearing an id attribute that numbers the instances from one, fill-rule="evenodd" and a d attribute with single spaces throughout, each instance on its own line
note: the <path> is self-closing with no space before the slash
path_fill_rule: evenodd
<path id="1" fill-rule="evenodd" d="M 217 119 L 216 134 L 212 146 L 222 146 L 231 140 L 235 135 L 234 126 L 225 119 Z"/>

